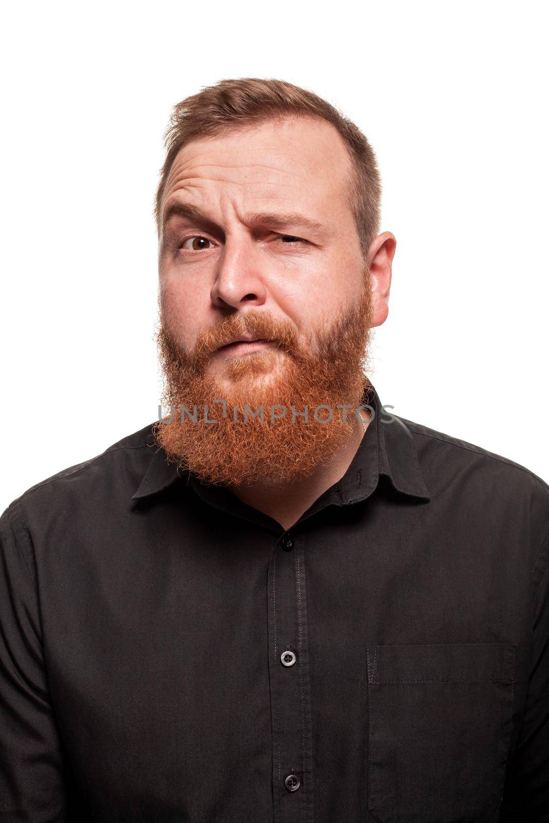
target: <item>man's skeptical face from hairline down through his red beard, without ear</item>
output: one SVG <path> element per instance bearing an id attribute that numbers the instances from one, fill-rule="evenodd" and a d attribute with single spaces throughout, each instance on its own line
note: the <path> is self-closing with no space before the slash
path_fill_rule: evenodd
<path id="1" fill-rule="evenodd" d="M 264 123 L 179 151 L 165 187 L 159 255 L 159 344 L 171 402 L 360 403 L 374 318 L 347 202 L 350 174 L 337 131 L 310 119 Z M 263 342 L 220 347 L 235 337 Z M 306 446 L 302 427 L 287 420 L 277 429 L 220 422 L 215 431 L 166 425 L 162 444 L 204 479 L 238 482 L 258 479 L 273 444 L 281 470 L 323 462 L 351 425 L 334 419 L 316 433 L 309 426 Z M 225 471 L 227 460 L 234 471 Z"/>

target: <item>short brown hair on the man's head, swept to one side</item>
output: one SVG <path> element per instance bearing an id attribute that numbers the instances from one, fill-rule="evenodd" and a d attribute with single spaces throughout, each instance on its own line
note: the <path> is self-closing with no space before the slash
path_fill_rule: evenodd
<path id="1" fill-rule="evenodd" d="M 179 149 L 200 137 L 214 137 L 230 129 L 284 117 L 325 120 L 342 136 L 355 170 L 348 184 L 348 202 L 366 258 L 372 240 L 379 234 L 381 199 L 381 180 L 370 143 L 355 123 L 312 91 L 283 80 L 257 77 L 221 80 L 174 106 L 164 136 L 166 157 L 156 190 L 154 214 L 158 234 L 165 184 Z"/>

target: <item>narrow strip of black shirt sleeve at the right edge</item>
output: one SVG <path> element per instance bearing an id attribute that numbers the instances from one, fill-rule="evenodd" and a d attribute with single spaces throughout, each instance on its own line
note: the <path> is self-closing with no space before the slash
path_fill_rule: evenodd
<path id="1" fill-rule="evenodd" d="M 549 535 L 533 567 L 532 654 L 500 823 L 549 821 Z"/>

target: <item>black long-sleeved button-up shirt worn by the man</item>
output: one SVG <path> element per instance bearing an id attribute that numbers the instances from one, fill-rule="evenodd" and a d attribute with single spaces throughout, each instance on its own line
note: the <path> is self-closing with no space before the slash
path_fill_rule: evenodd
<path id="1" fill-rule="evenodd" d="M 0 821 L 549 821 L 549 488 L 384 414 L 289 530 L 151 425 L 2 515 Z"/>

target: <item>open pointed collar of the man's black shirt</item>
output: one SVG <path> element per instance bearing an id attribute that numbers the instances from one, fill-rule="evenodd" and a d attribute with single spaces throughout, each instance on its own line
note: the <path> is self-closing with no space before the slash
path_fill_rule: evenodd
<path id="1" fill-rule="evenodd" d="M 323 492 L 307 514 L 313 514 L 313 510 L 327 504 L 348 505 L 365 500 L 375 491 L 380 476 L 387 477 L 393 489 L 402 495 L 430 500 L 410 430 L 398 417 L 384 411 L 375 388 L 366 388 L 362 403 L 371 407 L 373 419 L 361 445 L 342 479 Z M 198 495 L 209 503 L 217 504 L 220 496 L 227 500 L 227 495 L 230 500 L 237 500 L 226 488 L 204 484 L 189 472 L 179 471 L 174 463 L 168 463 L 164 449 L 154 443 L 152 432 L 147 438 L 147 446 L 153 451 L 151 462 L 132 500 L 164 491 L 178 479 L 190 481 Z"/>

